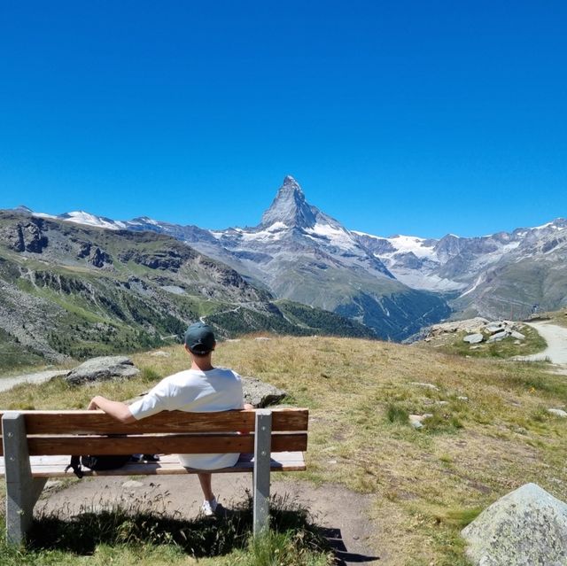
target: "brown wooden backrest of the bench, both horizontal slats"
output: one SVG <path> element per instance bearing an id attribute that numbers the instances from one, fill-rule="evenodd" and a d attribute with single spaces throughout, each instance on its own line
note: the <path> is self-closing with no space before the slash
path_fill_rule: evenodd
<path id="1" fill-rule="evenodd" d="M 5 412 L 0 411 L 0 417 Z M 164 411 L 132 424 L 118 423 L 102 411 L 18 412 L 24 415 L 28 450 L 34 456 L 214 454 L 254 450 L 254 435 L 248 434 L 254 430 L 254 410 Z M 307 425 L 307 409 L 272 409 L 272 451 L 306 451 Z M 123 436 L 109 438 L 108 434 Z M 0 455 L 4 455 L 1 442 Z"/>

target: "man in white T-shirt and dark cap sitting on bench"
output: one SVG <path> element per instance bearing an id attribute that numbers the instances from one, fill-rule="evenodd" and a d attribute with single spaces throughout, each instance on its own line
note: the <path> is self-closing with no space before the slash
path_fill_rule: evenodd
<path id="1" fill-rule="evenodd" d="M 240 376 L 231 369 L 213 367 L 215 345 L 210 326 L 203 322 L 191 324 L 185 332 L 190 369 L 164 378 L 132 405 L 97 395 L 91 399 L 89 409 L 102 409 L 121 423 L 134 423 L 160 411 L 206 413 L 253 408 L 244 402 Z M 185 468 L 214 470 L 234 466 L 239 455 L 179 454 L 179 461 Z M 205 496 L 201 510 L 206 516 L 213 516 L 217 501 L 211 485 L 212 474 L 210 471 L 199 472 L 198 479 Z"/>

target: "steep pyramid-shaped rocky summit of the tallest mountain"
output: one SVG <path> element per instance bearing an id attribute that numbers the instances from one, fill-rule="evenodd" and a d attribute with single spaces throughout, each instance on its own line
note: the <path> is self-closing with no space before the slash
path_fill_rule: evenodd
<path id="1" fill-rule="evenodd" d="M 260 227 L 267 228 L 282 222 L 288 228 L 311 228 L 315 226 L 317 209 L 307 203 L 299 182 L 291 175 L 283 179 L 274 202 L 263 214 Z"/>

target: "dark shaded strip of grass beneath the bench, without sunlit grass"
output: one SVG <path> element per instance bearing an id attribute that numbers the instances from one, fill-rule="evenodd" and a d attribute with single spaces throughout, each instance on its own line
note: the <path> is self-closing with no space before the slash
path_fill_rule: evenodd
<path id="1" fill-rule="evenodd" d="M 270 508 L 272 531 L 296 535 L 307 547 L 331 550 L 322 529 L 308 512 L 286 500 Z M 116 506 L 84 508 L 75 515 L 65 509 L 37 516 L 27 537 L 29 550 L 93 554 L 98 545 L 175 545 L 195 558 L 229 554 L 245 548 L 252 534 L 252 500 L 233 508 L 219 506 L 214 517 L 184 519 L 180 514 L 140 511 Z"/>

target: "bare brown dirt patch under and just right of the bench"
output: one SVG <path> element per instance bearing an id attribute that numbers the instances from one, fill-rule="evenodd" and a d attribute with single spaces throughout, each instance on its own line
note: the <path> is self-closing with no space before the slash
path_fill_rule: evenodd
<path id="1" fill-rule="evenodd" d="M 278 480 L 273 477 L 271 493 L 288 498 L 307 508 L 335 549 L 338 564 L 387 564 L 384 553 L 370 548 L 376 527 L 370 522 L 369 495 L 351 492 L 341 485 L 315 487 L 307 482 Z M 57 485 L 57 482 L 55 483 Z M 251 474 L 218 474 L 213 480 L 214 492 L 225 508 L 246 499 L 252 491 Z M 77 481 L 60 491 L 47 490 L 48 496 L 36 505 L 36 512 L 59 512 L 69 516 L 81 509 L 94 510 L 122 501 L 129 505 L 153 504 L 160 511 L 178 511 L 187 518 L 198 515 L 202 493 L 198 478 L 190 476 L 105 477 Z"/>

